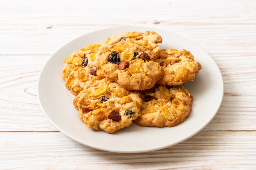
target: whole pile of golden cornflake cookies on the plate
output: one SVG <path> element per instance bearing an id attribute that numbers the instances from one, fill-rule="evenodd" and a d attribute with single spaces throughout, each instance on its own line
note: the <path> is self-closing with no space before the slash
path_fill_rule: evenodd
<path id="1" fill-rule="evenodd" d="M 113 133 L 130 126 L 175 126 L 190 114 L 193 97 L 181 85 L 201 65 L 186 50 L 160 49 L 155 32 L 128 32 L 89 44 L 64 62 L 63 79 L 89 128 Z"/>

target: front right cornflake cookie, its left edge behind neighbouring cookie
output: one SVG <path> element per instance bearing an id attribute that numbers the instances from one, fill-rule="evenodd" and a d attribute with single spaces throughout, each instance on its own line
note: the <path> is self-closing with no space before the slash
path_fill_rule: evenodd
<path id="1" fill-rule="evenodd" d="M 193 97 L 184 88 L 159 85 L 142 91 L 141 116 L 135 122 L 142 126 L 170 127 L 182 123 L 190 114 Z"/>

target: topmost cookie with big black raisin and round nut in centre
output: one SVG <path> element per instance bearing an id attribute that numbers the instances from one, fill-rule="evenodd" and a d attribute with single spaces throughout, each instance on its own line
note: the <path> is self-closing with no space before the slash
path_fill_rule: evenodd
<path id="1" fill-rule="evenodd" d="M 159 47 L 151 50 L 135 39 L 119 41 L 102 53 L 99 75 L 128 90 L 152 88 L 163 76 L 160 64 L 155 62 L 159 53 L 155 49 Z"/>

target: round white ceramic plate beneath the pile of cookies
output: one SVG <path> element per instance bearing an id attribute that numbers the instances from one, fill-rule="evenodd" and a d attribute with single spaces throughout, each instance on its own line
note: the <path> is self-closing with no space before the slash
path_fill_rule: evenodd
<path id="1" fill-rule="evenodd" d="M 63 60 L 74 50 L 87 44 L 104 42 L 107 37 L 128 31 L 155 31 L 163 38 L 160 48 L 183 48 L 189 50 L 202 65 L 199 75 L 193 82 L 184 84 L 193 95 L 193 107 L 190 116 L 175 127 L 142 127 L 137 124 L 121 129 L 113 134 L 94 131 L 78 118 L 74 109 L 74 96 L 65 87 L 62 69 Z M 126 26 L 95 31 L 74 39 L 59 49 L 47 61 L 40 73 L 38 98 L 47 118 L 62 133 L 75 141 L 111 152 L 139 153 L 166 148 L 178 144 L 202 130 L 216 115 L 223 97 L 223 81 L 220 70 L 213 59 L 193 42 L 155 28 Z"/>

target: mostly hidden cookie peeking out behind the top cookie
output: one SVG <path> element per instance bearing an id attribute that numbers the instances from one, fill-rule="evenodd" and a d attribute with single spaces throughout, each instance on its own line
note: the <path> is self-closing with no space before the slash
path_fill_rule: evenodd
<path id="1" fill-rule="evenodd" d="M 143 46 L 146 46 L 150 50 L 153 50 L 154 48 L 158 47 L 158 43 L 162 43 L 162 37 L 153 31 L 146 31 L 145 33 L 140 33 L 137 31 L 120 33 L 114 35 L 111 38 L 108 38 L 105 43 L 113 45 L 119 41 L 129 40 L 136 40 L 138 43 L 140 43 Z"/>

